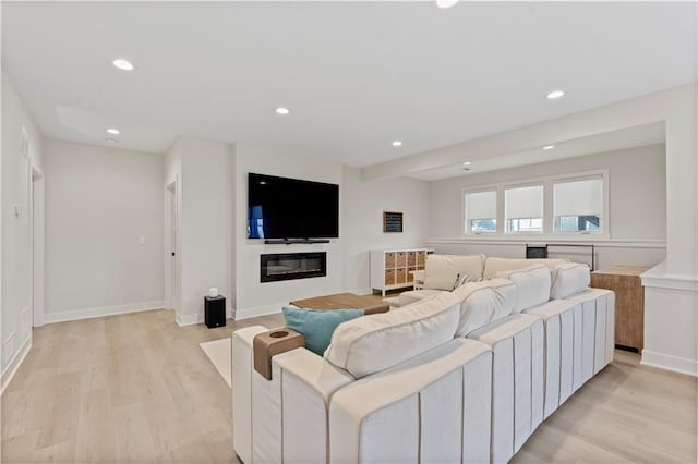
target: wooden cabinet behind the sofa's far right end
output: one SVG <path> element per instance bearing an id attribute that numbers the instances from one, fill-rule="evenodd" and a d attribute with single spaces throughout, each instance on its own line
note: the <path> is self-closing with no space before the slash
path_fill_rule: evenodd
<path id="1" fill-rule="evenodd" d="M 591 286 L 615 292 L 615 344 L 642 352 L 645 345 L 645 266 L 612 266 L 591 272 Z"/>

